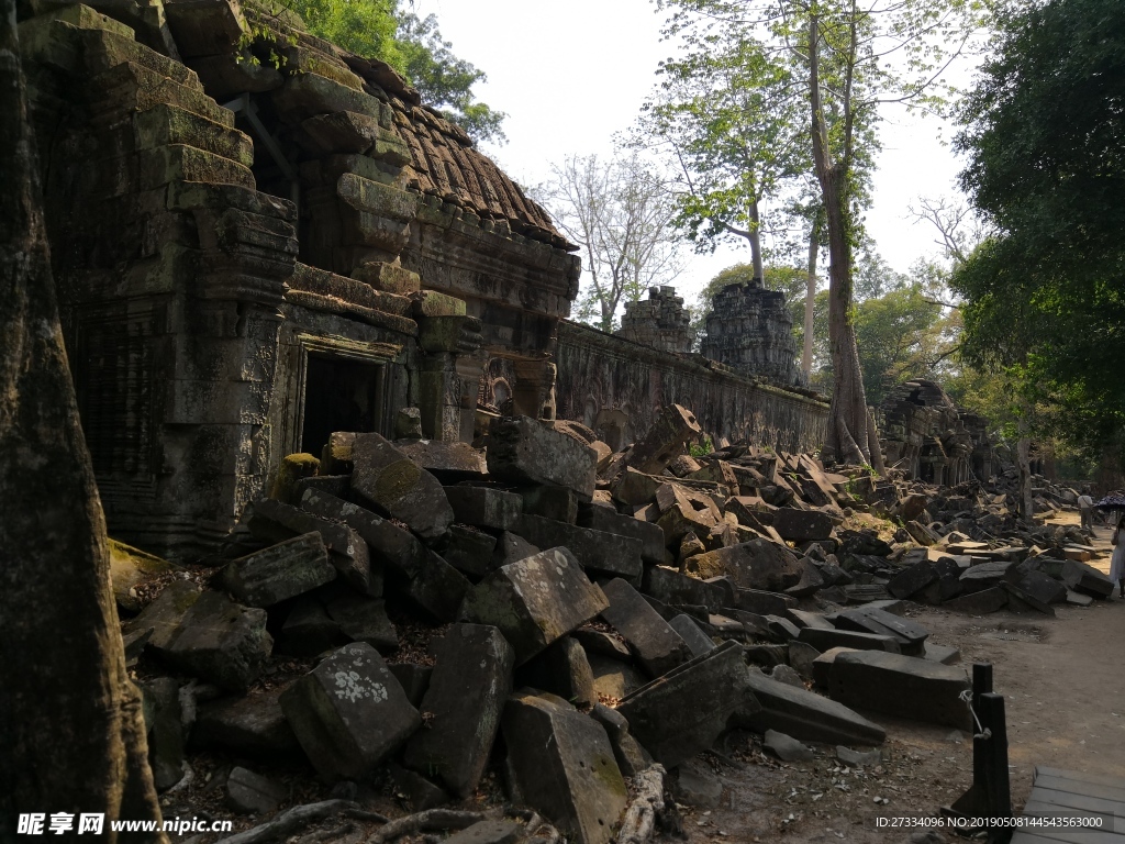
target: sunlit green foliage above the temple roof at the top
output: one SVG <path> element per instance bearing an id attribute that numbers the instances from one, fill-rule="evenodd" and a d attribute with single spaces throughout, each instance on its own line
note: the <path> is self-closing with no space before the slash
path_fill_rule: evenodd
<path id="1" fill-rule="evenodd" d="M 461 126 L 475 141 L 503 142 L 505 115 L 478 102 L 472 87 L 484 71 L 452 53 L 438 19 L 402 12 L 398 0 L 284 0 L 308 30 L 344 50 L 380 59 L 411 82 L 423 101 Z"/>

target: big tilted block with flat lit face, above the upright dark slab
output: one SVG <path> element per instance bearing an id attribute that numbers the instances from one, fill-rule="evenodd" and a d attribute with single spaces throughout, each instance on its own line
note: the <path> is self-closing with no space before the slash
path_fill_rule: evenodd
<path id="1" fill-rule="evenodd" d="M 608 607 L 575 556 L 550 548 L 493 572 L 465 595 L 462 613 L 498 627 L 522 665 Z"/>

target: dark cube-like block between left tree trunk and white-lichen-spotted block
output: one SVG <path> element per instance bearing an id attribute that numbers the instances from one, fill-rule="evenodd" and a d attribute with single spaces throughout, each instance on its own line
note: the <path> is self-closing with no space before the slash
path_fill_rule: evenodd
<path id="1" fill-rule="evenodd" d="M 222 592 L 204 592 L 159 653 L 201 680 L 244 692 L 262 673 L 272 648 L 266 610 L 243 607 Z"/>

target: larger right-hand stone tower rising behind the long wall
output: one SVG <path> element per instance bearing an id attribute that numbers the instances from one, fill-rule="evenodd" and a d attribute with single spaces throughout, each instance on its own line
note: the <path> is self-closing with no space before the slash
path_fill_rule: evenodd
<path id="1" fill-rule="evenodd" d="M 785 296 L 767 290 L 758 279 L 716 294 L 700 351 L 742 375 L 784 385 L 798 381 L 796 340 Z"/>

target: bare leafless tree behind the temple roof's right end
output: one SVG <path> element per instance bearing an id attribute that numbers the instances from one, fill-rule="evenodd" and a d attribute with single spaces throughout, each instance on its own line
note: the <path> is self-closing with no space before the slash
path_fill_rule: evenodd
<path id="1" fill-rule="evenodd" d="M 612 331 L 623 303 L 672 281 L 683 267 L 670 195 L 636 153 L 605 163 L 596 155 L 568 158 L 551 174 L 532 192 L 582 246 L 588 282 L 578 318 Z"/>

